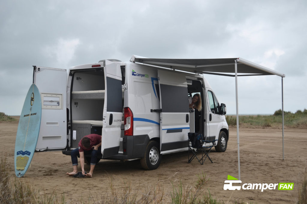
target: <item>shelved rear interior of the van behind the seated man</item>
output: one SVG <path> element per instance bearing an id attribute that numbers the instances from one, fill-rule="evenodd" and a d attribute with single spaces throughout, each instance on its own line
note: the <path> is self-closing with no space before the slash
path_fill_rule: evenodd
<path id="1" fill-rule="evenodd" d="M 122 101 L 120 101 L 122 104 L 123 91 L 122 89 Z M 77 70 L 73 73 L 71 92 L 72 148 L 77 148 L 80 139 L 85 135 L 102 134 L 104 99 L 103 69 Z M 122 135 L 123 129 L 122 121 Z"/>

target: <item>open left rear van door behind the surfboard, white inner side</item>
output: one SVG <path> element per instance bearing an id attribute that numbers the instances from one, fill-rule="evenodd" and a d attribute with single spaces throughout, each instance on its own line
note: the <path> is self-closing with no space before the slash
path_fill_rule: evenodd
<path id="1" fill-rule="evenodd" d="M 34 66 L 33 83 L 41 93 L 41 127 L 36 151 L 64 149 L 67 145 L 65 69 Z"/>

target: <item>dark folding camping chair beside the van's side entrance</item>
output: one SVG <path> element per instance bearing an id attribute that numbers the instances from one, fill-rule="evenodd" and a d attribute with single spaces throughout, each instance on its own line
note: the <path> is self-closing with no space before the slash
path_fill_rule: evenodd
<path id="1" fill-rule="evenodd" d="M 208 158 L 211 161 L 211 163 L 213 163 L 213 161 L 209 157 L 209 153 L 212 147 L 216 144 L 216 141 L 217 139 L 215 139 L 215 137 L 208 138 L 208 140 L 205 140 L 202 134 L 189 132 L 188 133 L 188 163 L 191 163 L 191 161 L 194 158 L 196 158 L 201 165 L 204 164 L 206 158 Z M 190 154 L 192 154 L 191 157 L 190 157 Z"/>

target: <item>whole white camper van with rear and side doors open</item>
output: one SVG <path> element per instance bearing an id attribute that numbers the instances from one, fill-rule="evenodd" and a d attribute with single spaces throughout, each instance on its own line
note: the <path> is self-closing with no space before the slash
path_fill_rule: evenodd
<path id="1" fill-rule="evenodd" d="M 188 132 L 198 132 L 207 140 L 217 139 L 216 151 L 224 152 L 226 106 L 203 75 L 142 59 L 147 58 L 102 60 L 68 72 L 33 66 L 42 101 L 36 151 L 70 155 L 83 136 L 96 133 L 102 135 L 98 161 L 141 159 L 142 167 L 151 170 L 160 165 L 161 154 L 188 150 Z M 196 93 L 203 109 L 190 113 L 188 97 Z"/>

